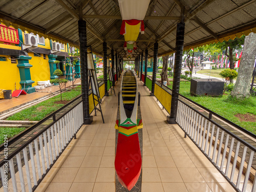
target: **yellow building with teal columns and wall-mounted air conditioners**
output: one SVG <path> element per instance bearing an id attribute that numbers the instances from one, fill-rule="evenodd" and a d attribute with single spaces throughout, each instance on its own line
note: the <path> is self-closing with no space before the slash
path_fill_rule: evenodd
<path id="1" fill-rule="evenodd" d="M 38 81 L 57 78 L 53 72 L 58 68 L 67 79 L 72 80 L 71 53 L 75 48 L 37 34 L 28 33 L 0 24 L 0 89 L 23 89 L 35 92 Z M 54 61 L 59 60 L 56 64 Z M 73 67 L 75 77 L 80 77 L 79 60 Z"/>

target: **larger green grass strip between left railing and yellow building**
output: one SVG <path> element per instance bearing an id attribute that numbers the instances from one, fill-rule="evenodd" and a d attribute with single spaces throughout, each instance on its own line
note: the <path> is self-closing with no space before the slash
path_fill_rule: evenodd
<path id="1" fill-rule="evenodd" d="M 81 90 L 71 90 L 62 93 L 62 100 L 72 100 L 76 96 L 81 94 Z M 55 103 L 60 101 L 60 94 L 56 95 L 48 100 L 42 101 L 36 105 L 31 106 L 25 110 L 22 110 L 18 113 L 7 118 L 7 120 L 28 120 L 28 121 L 39 121 L 45 118 L 47 115 L 61 108 L 64 104 Z"/>

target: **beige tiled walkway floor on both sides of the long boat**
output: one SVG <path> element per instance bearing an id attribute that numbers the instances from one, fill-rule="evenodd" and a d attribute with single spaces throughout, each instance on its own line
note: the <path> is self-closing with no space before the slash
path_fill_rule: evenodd
<path id="1" fill-rule="evenodd" d="M 140 82 L 143 121 L 142 191 L 234 191 Z M 118 91 L 116 91 L 117 93 Z M 36 191 L 115 191 L 117 96 L 105 97 L 101 117 L 83 126 Z"/>

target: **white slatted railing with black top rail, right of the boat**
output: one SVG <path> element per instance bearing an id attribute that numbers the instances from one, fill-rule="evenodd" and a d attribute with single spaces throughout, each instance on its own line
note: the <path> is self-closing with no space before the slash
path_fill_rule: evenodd
<path id="1" fill-rule="evenodd" d="M 256 148 L 178 99 L 176 122 L 237 191 L 256 191 Z"/>

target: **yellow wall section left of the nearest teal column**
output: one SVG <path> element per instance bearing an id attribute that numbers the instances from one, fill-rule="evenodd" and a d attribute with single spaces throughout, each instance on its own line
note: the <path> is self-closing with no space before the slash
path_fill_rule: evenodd
<path id="1" fill-rule="evenodd" d="M 11 63 L 9 56 L 0 55 L 1 57 L 7 57 L 7 61 L 0 61 L 0 89 L 14 90 L 14 84 L 16 82 L 16 89 L 19 89 L 20 76 L 17 63 Z"/>

